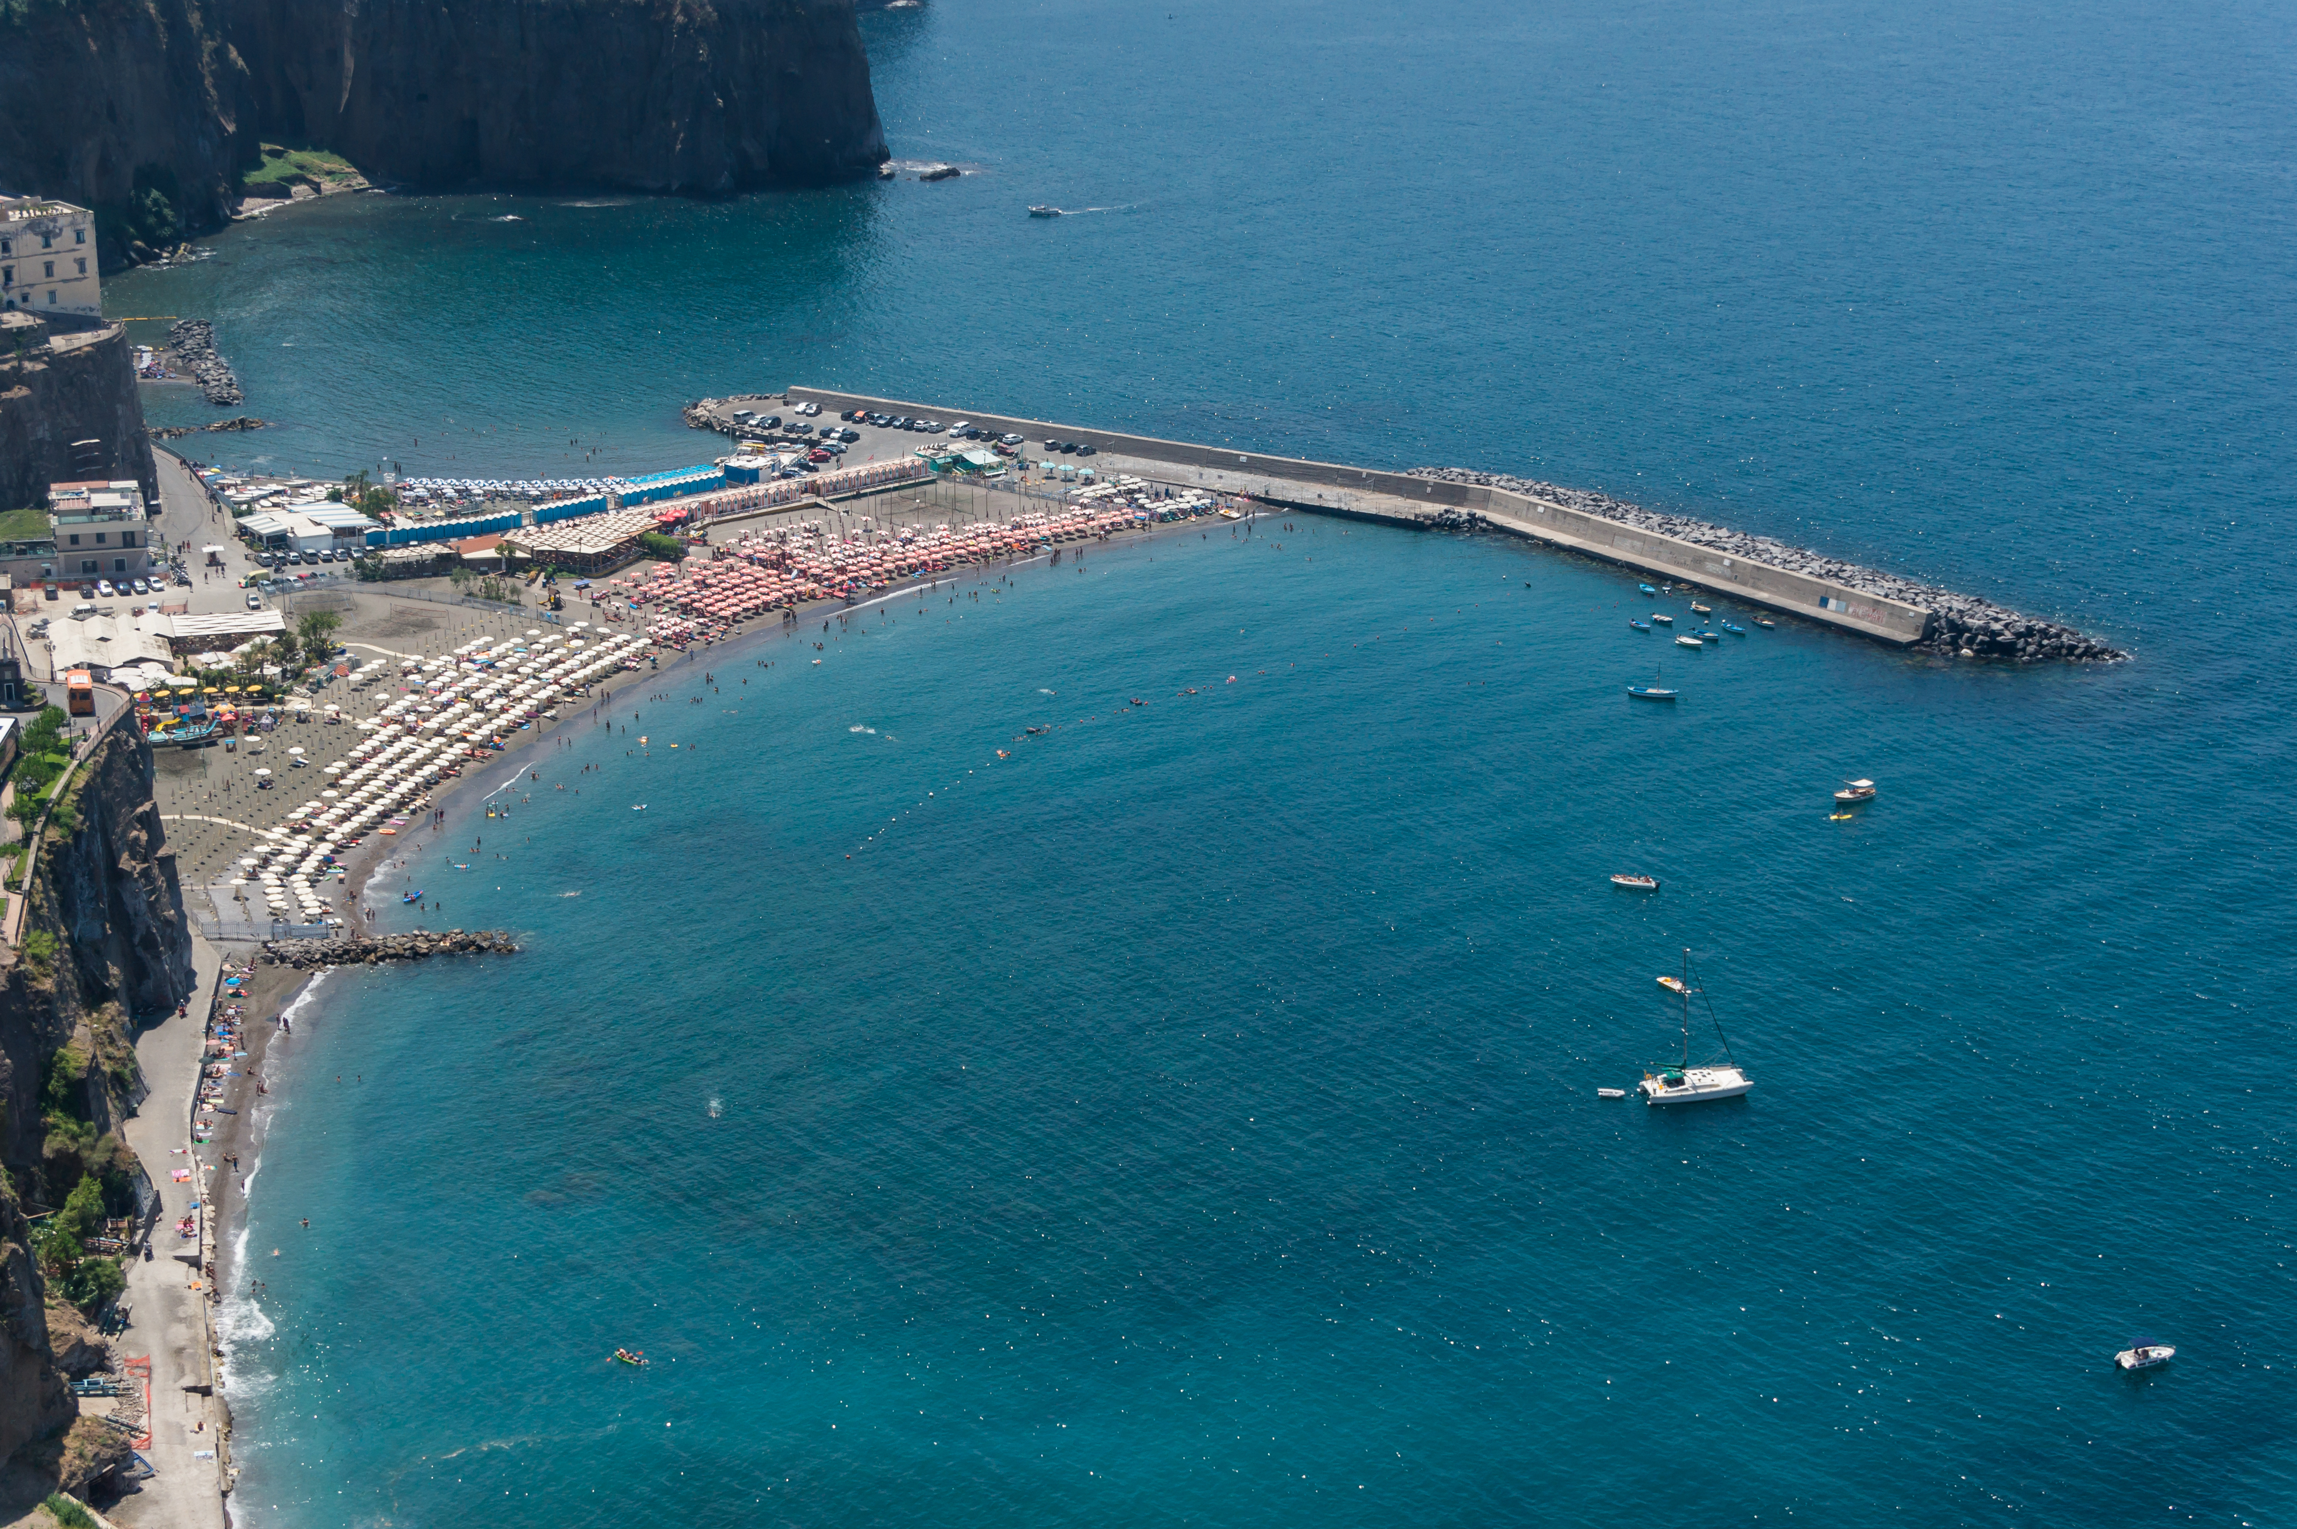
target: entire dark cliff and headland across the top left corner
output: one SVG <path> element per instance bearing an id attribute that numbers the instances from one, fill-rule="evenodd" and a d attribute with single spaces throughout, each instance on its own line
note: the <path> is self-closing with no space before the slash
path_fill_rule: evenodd
<path id="1" fill-rule="evenodd" d="M 379 181 L 719 195 L 887 158 L 852 0 L 0 0 L 0 188 L 103 253 L 216 227 L 262 138 Z"/>

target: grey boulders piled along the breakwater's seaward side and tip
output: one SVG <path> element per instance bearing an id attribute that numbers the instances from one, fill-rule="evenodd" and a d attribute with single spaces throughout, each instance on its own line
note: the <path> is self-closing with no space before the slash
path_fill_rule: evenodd
<path id="1" fill-rule="evenodd" d="M 1771 537 L 1755 537 L 1743 530 L 1730 530 L 1727 526 L 1695 521 L 1686 514 L 1658 514 L 1654 510 L 1645 510 L 1642 505 L 1612 498 L 1610 494 L 1567 489 L 1534 478 L 1509 478 L 1507 473 L 1475 473 L 1468 468 L 1413 468 L 1413 478 L 1429 478 L 1436 482 L 1472 482 L 1488 489 L 1507 489 L 1509 494 L 1530 494 L 1534 498 L 1564 505 L 1567 510 L 1578 510 L 1580 514 L 1599 514 L 1606 521 L 1652 530 L 1663 537 L 1675 537 L 1677 542 L 1691 542 L 1693 546 L 1709 546 L 1730 558 L 1769 562 L 1771 567 L 1808 574 L 1810 579 L 1828 579 L 1851 590 L 1881 595 L 1884 599 L 1897 599 L 1909 606 L 1923 606 L 1934 611 L 1939 620 L 1932 622 L 1932 634 L 1913 645 L 1916 652 L 1959 654 L 1964 659 L 2065 659 L 2072 663 L 2111 663 L 2129 657 L 2127 652 L 2106 647 L 2072 627 L 2019 615 L 2017 611 L 1996 606 L 1991 599 L 1955 595 L 1952 590 L 1900 579 L 1897 574 L 1884 574 L 1881 569 L 1828 558 L 1826 553 L 1810 551 L 1808 546 L 1789 546 L 1785 542 L 1773 542 Z"/>

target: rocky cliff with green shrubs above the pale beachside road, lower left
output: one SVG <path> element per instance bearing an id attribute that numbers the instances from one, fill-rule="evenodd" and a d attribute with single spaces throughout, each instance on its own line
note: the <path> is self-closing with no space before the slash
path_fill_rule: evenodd
<path id="1" fill-rule="evenodd" d="M 0 1458 L 71 1419 L 23 1205 L 53 1210 L 85 1173 L 136 1201 L 142 1169 L 117 1136 L 145 1093 L 133 1024 L 193 987 L 149 746 L 110 735 L 67 790 L 74 826 L 44 845 L 23 946 L 0 971 Z"/>

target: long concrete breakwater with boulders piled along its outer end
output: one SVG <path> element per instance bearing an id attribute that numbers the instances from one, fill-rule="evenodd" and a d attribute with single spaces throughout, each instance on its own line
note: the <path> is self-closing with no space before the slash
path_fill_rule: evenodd
<path id="1" fill-rule="evenodd" d="M 1263 503 L 1309 514 L 1339 514 L 1420 530 L 1502 530 L 1900 647 L 2012 659 L 2056 657 L 2095 661 L 2127 657 L 2070 627 L 2037 622 L 1969 595 L 1929 590 L 1913 581 L 1824 558 L 1822 553 L 1782 549 L 1782 544 L 1760 537 L 1748 537 L 1748 542 L 1780 549 L 1780 553 L 1753 556 L 1725 542 L 1727 537 L 1739 537 L 1739 533 L 1677 517 L 1649 517 L 1649 512 L 1633 505 L 1617 505 L 1617 500 L 1608 500 L 1606 496 L 1594 496 L 1601 505 L 1580 507 L 1573 500 L 1580 500 L 1583 491 L 1557 491 L 1550 484 L 1528 484 L 1525 480 L 1484 473 L 1445 471 L 1436 475 L 1426 468 L 1420 473 L 1385 473 L 1335 461 L 1261 457 L 1222 445 L 1160 441 L 1155 436 L 1130 436 L 1045 420 L 969 413 L 962 409 L 951 411 L 910 399 L 866 397 L 832 388 L 788 388 L 781 397 L 820 404 L 829 411 L 868 409 L 887 416 L 933 420 L 962 418 L 981 429 L 1022 436 L 1024 452 L 1031 457 L 1050 441 L 1061 441 L 1070 448 L 1091 445 L 1105 455 L 1096 464 L 1103 471 L 1139 473 L 1158 482 L 1176 482 L 1215 494 L 1247 494 Z M 710 399 L 710 404 L 719 406 L 730 406 L 730 402 Z M 726 427 L 710 406 L 703 406 L 701 413 L 703 420 L 696 422 Z M 1617 512 L 1608 514 L 1606 510 L 1615 505 L 1635 510 L 1647 521 Z M 1691 535 L 1665 530 L 1663 521 L 1670 519 Z M 1904 595 L 1884 592 L 1888 588 L 1902 588 Z"/>

